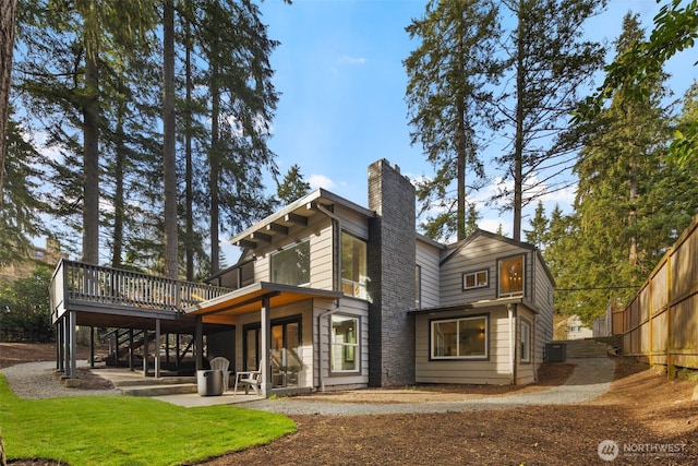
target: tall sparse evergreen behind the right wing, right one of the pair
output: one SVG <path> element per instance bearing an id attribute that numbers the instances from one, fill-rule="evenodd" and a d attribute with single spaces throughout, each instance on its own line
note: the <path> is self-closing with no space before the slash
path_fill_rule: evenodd
<path id="1" fill-rule="evenodd" d="M 557 140 L 577 108 L 577 89 L 603 65 L 604 50 L 583 39 L 585 22 L 600 12 L 602 0 L 503 0 L 516 17 L 505 43 L 507 80 L 500 123 L 509 139 L 498 158 L 513 191 L 503 190 L 514 212 L 513 236 L 521 237 L 522 208 L 544 193 L 566 187 L 561 174 L 574 164 L 579 146 Z M 505 186 L 505 184 L 503 184 Z"/>

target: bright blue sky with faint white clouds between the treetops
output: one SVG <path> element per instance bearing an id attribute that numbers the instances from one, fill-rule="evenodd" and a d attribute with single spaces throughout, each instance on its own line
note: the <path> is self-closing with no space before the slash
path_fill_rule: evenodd
<path id="1" fill-rule="evenodd" d="M 313 188 L 326 188 L 364 206 L 366 167 L 378 158 L 399 165 L 410 179 L 432 174 L 421 147 L 410 145 L 402 67 L 417 47 L 405 27 L 423 15 L 425 4 L 424 0 L 294 0 L 291 5 L 266 0 L 262 4 L 269 37 L 281 43 L 272 56 L 274 84 L 281 96 L 269 143 L 281 174 L 298 164 Z M 654 0 L 612 0 L 589 25 L 589 37 L 615 39 L 629 10 L 651 28 L 659 5 Z M 611 59 L 613 50 L 609 50 Z M 670 63 L 677 96 L 696 77 L 695 61 L 691 50 Z M 491 170 L 489 175 L 496 183 L 498 174 Z M 573 199 L 574 189 L 546 196 L 546 212 L 556 202 L 568 208 Z M 482 205 L 481 214 L 481 228 L 494 231 L 502 224 L 510 235 L 510 212 Z"/>

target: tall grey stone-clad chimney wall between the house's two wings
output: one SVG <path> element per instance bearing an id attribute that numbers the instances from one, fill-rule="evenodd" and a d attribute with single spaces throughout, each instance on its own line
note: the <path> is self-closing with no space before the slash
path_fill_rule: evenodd
<path id="1" fill-rule="evenodd" d="M 369 166 L 369 385 L 414 383 L 414 187 L 386 159 Z"/>

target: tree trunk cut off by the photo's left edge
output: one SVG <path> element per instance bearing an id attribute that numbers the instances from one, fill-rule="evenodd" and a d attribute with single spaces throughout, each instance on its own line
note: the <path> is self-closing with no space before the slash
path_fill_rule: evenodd
<path id="1" fill-rule="evenodd" d="M 8 118 L 10 105 L 10 87 L 12 84 L 12 52 L 14 49 L 14 16 L 17 11 L 16 0 L 0 2 L 0 211 L 3 199 L 4 159 L 7 157 Z"/>

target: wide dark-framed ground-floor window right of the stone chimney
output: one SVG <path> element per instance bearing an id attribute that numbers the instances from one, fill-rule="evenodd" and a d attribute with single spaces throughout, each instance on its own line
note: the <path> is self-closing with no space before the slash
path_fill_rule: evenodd
<path id="1" fill-rule="evenodd" d="M 432 359 L 486 358 L 486 315 L 432 321 Z"/>

